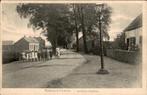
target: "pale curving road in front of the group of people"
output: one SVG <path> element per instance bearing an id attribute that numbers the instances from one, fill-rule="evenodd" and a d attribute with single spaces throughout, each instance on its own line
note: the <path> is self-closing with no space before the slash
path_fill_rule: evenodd
<path id="1" fill-rule="evenodd" d="M 65 51 L 59 59 L 3 64 L 3 87 L 47 87 L 49 81 L 67 76 L 85 61 L 80 54 Z"/>

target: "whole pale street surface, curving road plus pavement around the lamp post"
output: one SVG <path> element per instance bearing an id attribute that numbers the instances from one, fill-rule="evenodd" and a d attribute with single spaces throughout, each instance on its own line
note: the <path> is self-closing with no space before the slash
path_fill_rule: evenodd
<path id="1" fill-rule="evenodd" d="M 46 62 L 3 64 L 3 87 L 115 88 L 140 87 L 139 65 L 104 57 L 108 75 L 99 75 L 100 57 L 66 51 Z"/>

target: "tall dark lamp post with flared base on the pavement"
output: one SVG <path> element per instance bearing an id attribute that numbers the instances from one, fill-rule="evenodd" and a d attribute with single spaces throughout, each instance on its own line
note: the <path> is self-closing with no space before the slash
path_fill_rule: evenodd
<path id="1" fill-rule="evenodd" d="M 98 70 L 97 74 L 109 74 L 109 72 L 107 70 L 104 69 L 104 53 L 103 53 L 103 33 L 102 33 L 102 9 L 104 7 L 104 4 L 99 4 L 97 5 L 97 11 L 99 11 L 99 21 L 98 21 L 98 25 L 99 25 L 99 31 L 100 31 L 100 57 L 101 57 L 101 68 Z"/>

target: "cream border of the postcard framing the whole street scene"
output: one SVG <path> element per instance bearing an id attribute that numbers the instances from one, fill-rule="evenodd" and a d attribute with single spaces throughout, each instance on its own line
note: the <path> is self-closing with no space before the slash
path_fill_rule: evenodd
<path id="1" fill-rule="evenodd" d="M 1 88 L 2 95 L 147 95 L 147 6 L 146 1 L 1 1 L 3 3 L 142 3 L 143 4 L 143 63 L 142 63 L 142 88 Z M 2 9 L 2 6 L 1 6 Z M 133 11 L 133 10 L 132 10 Z M 2 12 L 2 11 L 1 11 Z M 2 15 L 1 15 L 2 21 Z M 0 32 L 1 36 L 1 32 Z M 1 36 L 2 37 L 2 36 Z M 1 42 L 0 42 L 1 44 Z M 0 49 L 2 47 L 0 46 Z M 2 51 L 1 51 L 2 52 Z M 2 53 L 0 53 L 2 54 Z M 2 56 L 2 55 L 1 55 Z M 2 66 L 0 66 L 2 70 Z M 0 72 L 2 77 L 2 72 Z M 1 78 L 2 79 L 2 78 Z M 2 83 L 2 82 L 1 82 Z"/>

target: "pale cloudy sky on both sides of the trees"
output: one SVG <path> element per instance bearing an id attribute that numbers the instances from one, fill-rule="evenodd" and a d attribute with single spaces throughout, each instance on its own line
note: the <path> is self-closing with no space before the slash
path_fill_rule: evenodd
<path id="1" fill-rule="evenodd" d="M 110 40 L 114 40 L 133 19 L 142 12 L 141 3 L 108 3 L 112 7 L 112 22 L 108 31 Z M 16 3 L 2 4 L 2 40 L 17 41 L 25 36 L 41 36 L 41 31 L 28 28 L 29 19 L 20 18 L 16 12 Z M 43 37 L 45 39 L 45 37 Z"/>

